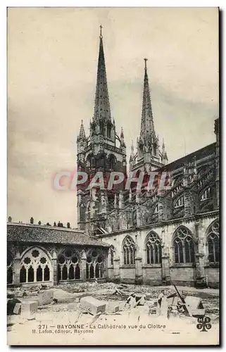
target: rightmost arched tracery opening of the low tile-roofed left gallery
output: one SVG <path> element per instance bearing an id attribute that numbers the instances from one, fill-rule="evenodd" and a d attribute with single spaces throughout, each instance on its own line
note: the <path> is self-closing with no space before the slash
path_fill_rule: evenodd
<path id="1" fill-rule="evenodd" d="M 98 249 L 93 249 L 87 255 L 87 279 L 101 278 L 104 276 L 105 260 Z"/>

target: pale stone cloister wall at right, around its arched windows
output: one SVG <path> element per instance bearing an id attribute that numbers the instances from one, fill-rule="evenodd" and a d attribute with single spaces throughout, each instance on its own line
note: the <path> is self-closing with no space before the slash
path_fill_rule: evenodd
<path id="1" fill-rule="evenodd" d="M 115 248 L 115 258 L 120 265 L 121 282 L 137 282 L 137 278 L 145 284 L 163 284 L 164 282 L 205 287 L 218 287 L 219 270 L 209 268 L 208 247 L 206 242 L 207 232 L 210 225 L 218 219 L 218 212 L 213 211 L 206 214 L 191 215 L 186 218 L 159 222 L 157 224 L 139 227 L 124 231 L 113 232 L 101 236 L 102 240 Z M 189 231 L 194 240 L 195 260 L 194 263 L 175 263 L 174 248 L 172 245 L 175 231 L 184 227 Z M 146 260 L 146 239 L 150 232 L 158 235 L 162 245 L 162 264 L 151 265 Z M 135 265 L 125 268 L 123 265 L 123 241 L 129 236 L 136 246 Z M 114 268 L 115 272 L 115 268 Z M 115 274 L 114 274 L 115 275 Z M 114 276 L 115 277 L 115 276 Z M 207 277 L 207 279 L 206 279 Z M 111 278 L 112 272 L 111 272 Z"/>

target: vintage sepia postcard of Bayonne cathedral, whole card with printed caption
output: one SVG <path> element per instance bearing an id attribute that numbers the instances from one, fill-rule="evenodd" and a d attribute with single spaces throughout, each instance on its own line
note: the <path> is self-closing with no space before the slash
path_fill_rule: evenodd
<path id="1" fill-rule="evenodd" d="M 8 8 L 9 345 L 220 344 L 218 22 Z"/>

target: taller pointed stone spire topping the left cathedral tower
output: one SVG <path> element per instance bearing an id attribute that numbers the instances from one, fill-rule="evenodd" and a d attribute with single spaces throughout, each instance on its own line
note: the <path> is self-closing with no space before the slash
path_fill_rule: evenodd
<path id="1" fill-rule="evenodd" d="M 98 68 L 97 68 L 97 77 L 96 77 L 94 120 L 111 120 L 106 67 L 105 67 L 105 59 L 104 59 L 104 53 L 103 53 L 102 26 L 100 26 L 100 45 L 99 45 L 99 59 L 98 59 Z"/>

